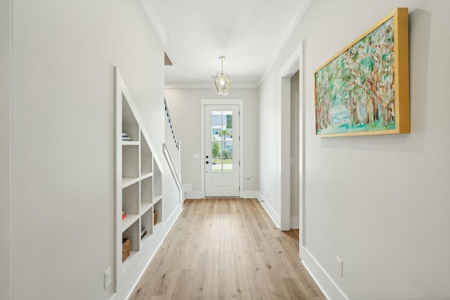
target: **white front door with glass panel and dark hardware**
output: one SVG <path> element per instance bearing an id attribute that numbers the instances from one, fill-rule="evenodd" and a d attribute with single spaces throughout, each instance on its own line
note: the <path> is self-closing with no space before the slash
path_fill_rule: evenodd
<path id="1" fill-rule="evenodd" d="M 239 139 L 239 105 L 205 105 L 205 197 L 239 197 Z"/>

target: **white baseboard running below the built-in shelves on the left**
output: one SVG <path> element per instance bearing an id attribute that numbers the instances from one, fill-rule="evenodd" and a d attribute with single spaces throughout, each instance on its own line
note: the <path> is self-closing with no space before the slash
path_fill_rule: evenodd
<path id="1" fill-rule="evenodd" d="M 181 204 L 179 204 L 174 212 L 169 216 L 167 221 L 163 224 L 164 227 L 162 230 L 157 233 L 157 236 L 155 236 L 153 244 L 146 249 L 146 252 L 143 256 L 141 256 L 141 259 L 139 259 L 139 262 L 136 263 L 133 270 L 131 270 L 131 273 L 128 275 L 127 279 L 125 279 L 120 289 L 110 298 L 110 300 L 129 299 L 136 288 L 136 285 L 138 285 L 139 280 L 141 280 L 143 273 L 152 261 L 153 256 L 155 256 L 158 249 L 160 249 L 162 242 L 164 242 L 167 234 L 169 234 L 169 231 L 174 226 L 175 221 L 180 216 L 182 210 Z"/>

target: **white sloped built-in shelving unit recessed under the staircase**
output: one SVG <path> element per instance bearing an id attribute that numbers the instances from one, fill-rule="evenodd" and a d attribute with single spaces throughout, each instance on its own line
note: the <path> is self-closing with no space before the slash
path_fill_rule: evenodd
<path id="1" fill-rule="evenodd" d="M 116 291 L 158 232 L 158 224 L 162 222 L 162 202 L 161 164 L 115 67 Z M 123 219 L 122 212 L 127 214 Z M 141 237 L 142 230 L 146 234 Z M 127 259 L 122 261 L 124 239 L 129 239 L 130 251 Z"/>

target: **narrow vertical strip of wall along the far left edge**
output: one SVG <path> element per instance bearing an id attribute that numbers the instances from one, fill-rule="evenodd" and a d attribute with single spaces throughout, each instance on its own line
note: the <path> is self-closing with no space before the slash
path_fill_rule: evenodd
<path id="1" fill-rule="evenodd" d="M 0 299 L 11 298 L 11 1 L 0 1 Z"/>

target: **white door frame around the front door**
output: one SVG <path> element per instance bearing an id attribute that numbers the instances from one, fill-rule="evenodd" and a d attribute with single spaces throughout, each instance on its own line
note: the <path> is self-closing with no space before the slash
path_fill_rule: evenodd
<path id="1" fill-rule="evenodd" d="M 205 105 L 238 105 L 239 106 L 239 197 L 244 186 L 244 100 L 243 99 L 200 99 L 200 188 L 205 197 Z"/>

